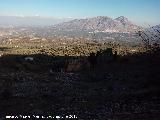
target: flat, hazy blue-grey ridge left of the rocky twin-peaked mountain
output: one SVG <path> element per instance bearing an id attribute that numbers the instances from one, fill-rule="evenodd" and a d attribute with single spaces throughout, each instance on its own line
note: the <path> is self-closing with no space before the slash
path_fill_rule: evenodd
<path id="1" fill-rule="evenodd" d="M 52 26 L 70 20 L 41 16 L 0 16 L 0 26 Z"/>

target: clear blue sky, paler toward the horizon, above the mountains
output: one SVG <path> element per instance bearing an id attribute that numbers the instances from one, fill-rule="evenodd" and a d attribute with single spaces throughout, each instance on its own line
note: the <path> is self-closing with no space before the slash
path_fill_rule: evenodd
<path id="1" fill-rule="evenodd" d="M 125 16 L 139 24 L 160 24 L 160 0 L 0 0 L 0 16 L 86 18 Z"/>

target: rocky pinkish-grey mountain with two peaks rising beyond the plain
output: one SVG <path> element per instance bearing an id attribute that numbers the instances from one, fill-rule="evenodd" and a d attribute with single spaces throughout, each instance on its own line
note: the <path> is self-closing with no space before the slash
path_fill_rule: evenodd
<path id="1" fill-rule="evenodd" d="M 94 30 L 103 32 L 134 32 L 140 29 L 128 18 L 120 16 L 112 19 L 107 16 L 98 16 L 94 18 L 75 19 L 55 25 L 56 28 L 66 31 L 74 30 Z"/>

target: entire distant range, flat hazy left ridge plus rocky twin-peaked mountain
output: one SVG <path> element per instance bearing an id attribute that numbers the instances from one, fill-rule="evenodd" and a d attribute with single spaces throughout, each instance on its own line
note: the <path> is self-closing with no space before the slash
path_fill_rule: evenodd
<path id="1" fill-rule="evenodd" d="M 120 16 L 112 19 L 107 16 L 97 16 L 86 19 L 0 16 L 0 26 L 54 26 L 63 31 L 97 31 L 97 32 L 134 32 L 140 27 L 128 18 Z"/>

